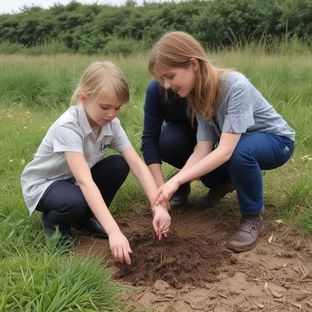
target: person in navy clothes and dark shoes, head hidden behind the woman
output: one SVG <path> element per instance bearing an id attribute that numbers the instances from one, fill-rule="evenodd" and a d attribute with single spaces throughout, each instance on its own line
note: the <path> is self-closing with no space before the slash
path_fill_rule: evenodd
<path id="1" fill-rule="evenodd" d="M 166 122 L 163 127 L 163 121 Z M 197 121 L 187 114 L 186 98 L 167 91 L 154 79 L 146 90 L 144 128 L 142 136 L 143 157 L 158 187 L 164 183 L 162 161 L 181 169 L 192 155 L 197 144 Z M 196 202 L 196 208 L 211 207 L 227 193 L 234 190 L 232 183 L 212 187 Z M 170 200 L 173 209 L 185 207 L 191 192 L 190 182 L 180 185 Z"/>

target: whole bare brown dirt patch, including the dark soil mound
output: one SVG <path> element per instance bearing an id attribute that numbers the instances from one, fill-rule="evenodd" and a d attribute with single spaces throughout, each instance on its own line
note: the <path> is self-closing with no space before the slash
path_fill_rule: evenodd
<path id="1" fill-rule="evenodd" d="M 106 256 L 103 263 L 109 261 L 117 268 L 116 283 L 137 287 L 121 295 L 130 310 L 312 311 L 310 250 L 303 242 L 300 250 L 295 249 L 295 236 L 279 240 L 283 225 L 276 228 L 267 221 L 267 233 L 257 246 L 235 254 L 225 243 L 236 230 L 237 217 L 211 218 L 198 212 L 171 212 L 171 216 L 168 237 L 161 241 L 150 215 L 117 220 L 133 250 L 130 266 L 114 260 L 107 240 L 76 232 L 79 252 Z M 276 240 L 269 243 L 272 232 Z"/>

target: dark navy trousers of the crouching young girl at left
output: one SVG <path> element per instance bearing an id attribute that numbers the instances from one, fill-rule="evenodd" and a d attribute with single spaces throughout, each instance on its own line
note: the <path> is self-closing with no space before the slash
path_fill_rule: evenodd
<path id="1" fill-rule="evenodd" d="M 121 155 L 103 158 L 91 168 L 93 181 L 107 207 L 129 173 L 129 166 Z M 46 213 L 51 224 L 68 226 L 81 218 L 94 217 L 81 189 L 76 184 L 58 180 L 42 195 L 37 211 Z"/>

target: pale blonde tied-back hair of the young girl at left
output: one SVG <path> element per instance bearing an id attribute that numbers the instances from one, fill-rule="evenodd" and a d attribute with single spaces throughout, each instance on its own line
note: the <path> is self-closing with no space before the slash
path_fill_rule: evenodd
<path id="1" fill-rule="evenodd" d="M 108 91 L 112 91 L 120 103 L 129 102 L 129 86 L 119 68 L 109 61 L 94 62 L 85 70 L 71 97 L 71 105 L 78 103 L 80 92 L 85 93 L 86 98 L 93 98 Z"/>

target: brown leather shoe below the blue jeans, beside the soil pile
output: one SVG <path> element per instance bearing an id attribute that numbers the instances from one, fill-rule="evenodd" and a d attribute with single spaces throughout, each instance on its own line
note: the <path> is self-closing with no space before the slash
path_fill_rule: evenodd
<path id="1" fill-rule="evenodd" d="M 227 243 L 227 248 L 234 252 L 251 250 L 256 246 L 258 238 L 265 233 L 261 213 L 242 215 L 241 224 Z"/>

